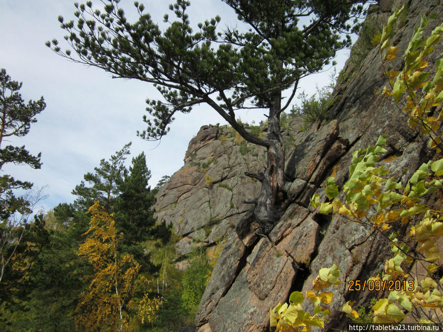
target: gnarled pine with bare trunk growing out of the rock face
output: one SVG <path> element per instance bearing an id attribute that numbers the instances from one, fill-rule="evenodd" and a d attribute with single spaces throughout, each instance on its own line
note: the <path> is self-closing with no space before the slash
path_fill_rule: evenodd
<path id="1" fill-rule="evenodd" d="M 245 140 L 267 149 L 267 167 L 248 174 L 261 181 L 255 218 L 268 233 L 285 200 L 285 149 L 280 115 L 290 106 L 301 78 L 318 72 L 336 52 L 350 44 L 349 19 L 363 6 L 358 0 L 223 0 L 248 26 L 245 30 L 218 30 L 219 16 L 198 24 L 192 31 L 188 0 L 176 0 L 170 10 L 176 16 L 162 30 L 134 2 L 139 18 L 130 23 L 119 0 L 75 3 L 77 22 L 64 22 L 63 51 L 54 39 L 46 43 L 59 55 L 102 68 L 114 77 L 137 79 L 157 86 L 163 99 L 147 100 L 152 119 L 144 118 L 144 139 L 160 139 L 169 131 L 176 112 L 189 113 L 192 106 L 207 104 Z M 359 5 L 357 5 L 359 4 Z M 342 38 L 343 33 L 345 38 Z M 73 51 L 73 52 L 72 52 Z M 75 54 L 75 55 L 74 55 Z M 285 91 L 288 90 L 288 97 Z M 237 120 L 237 111 L 266 110 L 267 135 L 249 133 Z"/>

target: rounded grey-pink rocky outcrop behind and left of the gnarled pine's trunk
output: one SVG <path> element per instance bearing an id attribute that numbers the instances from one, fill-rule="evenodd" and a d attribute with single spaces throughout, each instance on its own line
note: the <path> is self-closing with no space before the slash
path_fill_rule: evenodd
<path id="1" fill-rule="evenodd" d="M 159 190 L 155 205 L 159 221 L 172 223 L 179 235 L 187 236 L 177 246 L 179 255 L 232 232 L 251 208 L 244 199 L 260 189 L 245 172 L 261 172 L 265 153 L 227 126 L 200 128 L 189 143 L 185 165 Z"/>

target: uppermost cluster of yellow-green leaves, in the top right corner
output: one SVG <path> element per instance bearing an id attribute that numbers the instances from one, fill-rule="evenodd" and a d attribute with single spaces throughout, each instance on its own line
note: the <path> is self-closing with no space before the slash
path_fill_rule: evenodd
<path id="1" fill-rule="evenodd" d="M 395 28 L 398 15 L 404 8 L 397 10 L 383 29 L 380 40 L 380 55 L 383 65 L 396 58 L 398 47 L 390 46 L 390 34 Z M 383 88 L 382 95 L 393 97 L 397 104 L 403 103 L 402 112 L 409 117 L 408 124 L 412 128 L 418 127 L 422 135 L 429 135 L 429 146 L 436 148 L 437 153 L 442 151 L 440 144 L 442 135 L 438 133 L 443 119 L 427 117 L 434 112 L 434 108 L 443 102 L 443 59 L 436 61 L 436 71 L 433 79 L 430 73 L 424 71 L 429 63 L 426 57 L 434 50 L 435 45 L 443 36 L 443 24 L 437 26 L 431 35 L 424 38 L 423 31 L 428 25 L 428 19 L 423 15 L 420 26 L 416 28 L 411 41 L 405 51 L 405 66 L 401 71 L 391 69 L 385 72 L 390 88 Z M 402 101 L 402 98 L 404 101 Z M 442 115 L 442 111 L 440 114 Z"/>

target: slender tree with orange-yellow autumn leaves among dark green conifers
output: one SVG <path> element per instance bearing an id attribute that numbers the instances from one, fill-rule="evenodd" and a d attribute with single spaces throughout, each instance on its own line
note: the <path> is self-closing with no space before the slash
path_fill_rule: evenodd
<path id="1" fill-rule="evenodd" d="M 140 264 L 132 255 L 118 252 L 117 230 L 112 215 L 98 202 L 88 210 L 90 227 L 84 234 L 87 239 L 80 245 L 78 255 L 85 257 L 94 269 L 86 292 L 81 295 L 76 308 L 77 325 L 85 331 L 127 331 L 134 306 L 135 287 L 145 287 L 149 282 L 138 275 Z M 139 317 L 150 322 L 161 303 L 149 300 L 147 295 L 138 303 Z"/>

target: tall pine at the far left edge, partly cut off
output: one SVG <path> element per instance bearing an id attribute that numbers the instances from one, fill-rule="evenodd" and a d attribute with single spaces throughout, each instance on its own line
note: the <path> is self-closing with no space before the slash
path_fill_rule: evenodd
<path id="1" fill-rule="evenodd" d="M 0 69 L 0 171 L 5 164 L 41 166 L 40 153 L 32 155 L 25 146 L 4 146 L 11 137 L 28 134 L 35 116 L 46 104 L 41 97 L 37 101 L 24 102 L 20 89 L 22 83 L 12 81 L 5 69 Z M 9 290 L 31 267 L 44 245 L 47 234 L 40 216 L 29 221 L 32 208 L 43 198 L 41 190 L 32 193 L 32 183 L 14 179 L 4 174 L 0 177 L 0 282 L 1 290 Z M 26 193 L 16 197 L 14 191 Z M 5 275 L 8 274 L 6 277 Z"/>

